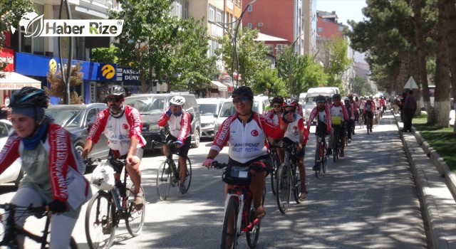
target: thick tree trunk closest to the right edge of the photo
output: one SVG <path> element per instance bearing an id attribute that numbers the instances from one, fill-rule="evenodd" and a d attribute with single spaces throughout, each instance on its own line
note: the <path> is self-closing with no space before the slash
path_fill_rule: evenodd
<path id="1" fill-rule="evenodd" d="M 448 127 L 450 121 L 450 51 L 448 49 L 448 31 L 453 23 L 447 13 L 447 0 L 438 0 L 437 58 L 435 61 L 435 120 L 440 127 Z M 454 4 L 454 1 L 453 3 Z"/>

